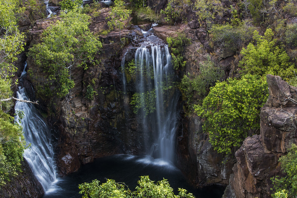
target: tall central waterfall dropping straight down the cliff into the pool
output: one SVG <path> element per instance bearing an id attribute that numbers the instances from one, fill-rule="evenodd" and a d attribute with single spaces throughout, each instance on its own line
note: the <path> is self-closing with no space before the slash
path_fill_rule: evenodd
<path id="1" fill-rule="evenodd" d="M 143 131 L 152 133 L 150 154 L 174 161 L 177 127 L 177 96 L 172 87 L 174 74 L 168 45 L 154 35 L 147 37 L 135 53 L 136 89 L 142 102 Z M 156 42 L 158 41 L 158 42 Z"/>

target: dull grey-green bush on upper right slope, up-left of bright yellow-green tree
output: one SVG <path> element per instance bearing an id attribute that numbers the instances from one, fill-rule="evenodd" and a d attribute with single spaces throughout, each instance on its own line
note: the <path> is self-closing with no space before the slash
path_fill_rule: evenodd
<path id="1" fill-rule="evenodd" d="M 209 31 L 215 45 L 223 49 L 237 50 L 252 38 L 255 28 L 240 23 L 238 26 L 230 24 L 213 25 Z"/>

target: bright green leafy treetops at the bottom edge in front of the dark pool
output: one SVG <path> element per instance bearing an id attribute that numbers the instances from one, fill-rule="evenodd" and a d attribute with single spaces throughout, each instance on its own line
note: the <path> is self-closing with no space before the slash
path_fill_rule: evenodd
<path id="1" fill-rule="evenodd" d="M 98 180 L 93 180 L 92 183 L 80 184 L 78 188 L 83 198 L 194 198 L 193 194 L 182 188 L 178 188 L 178 195 L 174 195 L 167 180 L 155 184 L 149 176 L 140 177 L 135 191 L 131 191 L 124 183 L 116 183 L 115 180 L 109 179 L 101 185 Z"/>

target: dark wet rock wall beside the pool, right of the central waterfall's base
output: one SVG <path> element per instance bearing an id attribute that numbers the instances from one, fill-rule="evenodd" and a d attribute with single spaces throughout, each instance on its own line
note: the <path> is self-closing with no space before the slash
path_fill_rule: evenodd
<path id="1" fill-rule="evenodd" d="M 202 133 L 202 121 L 197 115 L 183 125 L 188 130 L 178 139 L 179 168 L 197 186 L 227 185 L 234 164 L 232 155 L 225 157 L 213 149 L 207 134 Z"/>

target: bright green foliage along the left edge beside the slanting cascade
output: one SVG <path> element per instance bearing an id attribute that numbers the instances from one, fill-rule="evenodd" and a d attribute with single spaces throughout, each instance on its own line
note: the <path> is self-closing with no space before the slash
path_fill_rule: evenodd
<path id="1" fill-rule="evenodd" d="M 18 16 L 23 10 L 21 1 L 0 1 L 0 186 L 18 175 L 26 144 L 22 128 L 8 114 L 12 102 L 1 101 L 12 95 L 9 77 L 16 71 L 12 62 L 24 50 L 25 35 L 19 32 L 17 26 Z"/>

